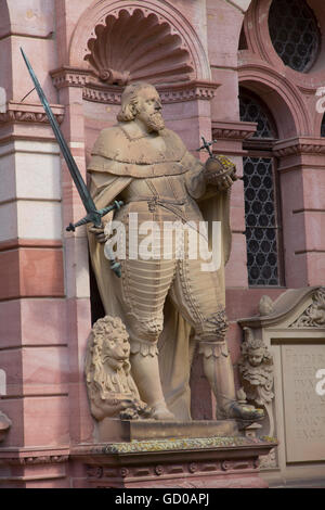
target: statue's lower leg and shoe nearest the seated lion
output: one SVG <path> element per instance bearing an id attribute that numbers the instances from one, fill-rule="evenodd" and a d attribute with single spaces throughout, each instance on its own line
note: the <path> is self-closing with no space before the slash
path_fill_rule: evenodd
<path id="1" fill-rule="evenodd" d="M 176 420 L 167 408 L 161 388 L 157 344 L 132 343 L 130 361 L 140 396 L 151 407 L 150 418 Z"/>

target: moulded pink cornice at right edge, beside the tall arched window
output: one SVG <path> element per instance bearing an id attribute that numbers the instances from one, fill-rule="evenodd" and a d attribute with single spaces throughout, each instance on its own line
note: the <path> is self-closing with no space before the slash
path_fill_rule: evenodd
<path id="1" fill-rule="evenodd" d="M 301 137 L 276 142 L 273 148 L 276 157 L 292 155 L 324 155 L 325 138 Z"/>

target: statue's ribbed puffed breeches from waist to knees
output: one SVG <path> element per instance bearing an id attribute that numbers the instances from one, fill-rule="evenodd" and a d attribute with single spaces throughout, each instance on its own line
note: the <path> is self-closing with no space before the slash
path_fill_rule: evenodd
<path id="1" fill-rule="evenodd" d="M 169 204 L 167 203 L 166 206 L 168 207 Z M 129 205 L 118 215 L 118 219 L 127 228 L 127 244 L 129 242 L 128 213 L 132 211 L 132 207 L 133 204 Z M 179 211 L 182 214 L 186 213 L 184 207 L 179 207 Z M 136 213 L 139 213 L 139 225 L 147 219 L 157 221 L 160 227 L 160 233 L 157 233 L 158 241 L 161 237 L 164 220 L 179 219 L 179 216 L 171 215 L 166 207 L 156 207 L 150 214 L 146 202 L 136 204 Z M 193 218 L 197 220 L 195 211 L 186 217 L 188 220 Z M 140 235 L 139 241 L 141 242 L 143 238 Z M 127 256 L 126 259 L 120 260 L 121 278 L 116 284 L 119 286 L 118 294 L 128 321 L 132 353 L 138 348 L 143 349 L 143 354 L 157 352 L 157 341 L 164 328 L 164 305 L 167 295 L 182 317 L 193 327 L 196 340 L 211 344 L 211 354 L 214 355 L 213 344 L 224 344 L 227 321 L 222 305 L 224 299 L 218 273 L 203 271 L 203 260 L 199 257 L 188 256 L 188 239 L 185 234 L 184 252 L 181 257 L 177 253 L 173 238 L 173 241 L 167 243 L 169 258 L 164 256 L 156 259 L 141 257 L 132 259 Z M 127 253 L 129 253 L 129 245 Z M 205 354 L 209 355 L 209 347 L 206 346 Z"/>

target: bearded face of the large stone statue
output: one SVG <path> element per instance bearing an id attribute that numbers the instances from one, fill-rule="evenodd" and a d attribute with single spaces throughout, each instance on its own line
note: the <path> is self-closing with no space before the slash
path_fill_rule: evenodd
<path id="1" fill-rule="evenodd" d="M 146 87 L 139 91 L 135 109 L 135 118 L 142 120 L 150 131 L 161 131 L 165 128 L 161 101 L 154 87 Z"/>

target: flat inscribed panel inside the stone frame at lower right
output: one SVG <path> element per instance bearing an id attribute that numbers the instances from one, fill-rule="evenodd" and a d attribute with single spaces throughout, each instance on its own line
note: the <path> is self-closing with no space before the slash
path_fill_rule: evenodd
<path id="1" fill-rule="evenodd" d="M 325 395 L 316 393 L 325 345 L 282 345 L 288 462 L 325 460 Z"/>

